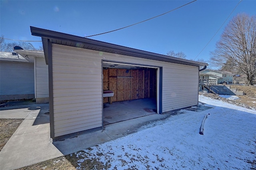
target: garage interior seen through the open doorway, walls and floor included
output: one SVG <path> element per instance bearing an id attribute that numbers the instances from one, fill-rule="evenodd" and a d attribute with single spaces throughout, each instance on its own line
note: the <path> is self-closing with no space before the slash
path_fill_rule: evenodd
<path id="1" fill-rule="evenodd" d="M 105 62 L 103 125 L 157 113 L 157 69 Z M 114 92 L 114 94 L 112 93 Z"/>

